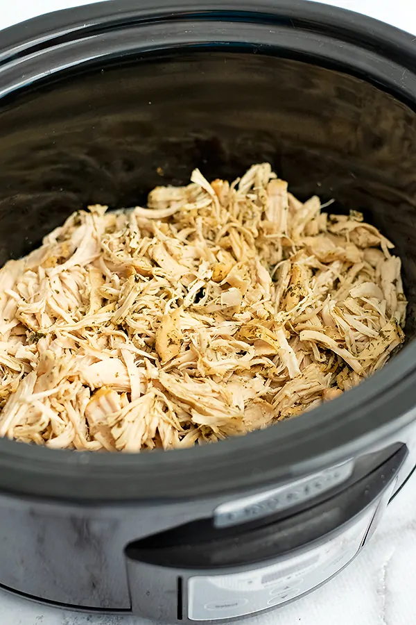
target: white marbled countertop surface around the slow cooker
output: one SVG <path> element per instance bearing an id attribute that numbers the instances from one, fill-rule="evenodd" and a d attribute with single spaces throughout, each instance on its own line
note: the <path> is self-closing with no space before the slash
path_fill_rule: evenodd
<path id="1" fill-rule="evenodd" d="M 116 1 L 116 0 L 110 0 Z M 254 2 L 255 0 L 253 0 Z M 361 11 L 416 35 L 415 0 L 321 0 Z M 82 0 L 4 0 L 0 28 Z M 413 625 L 416 623 L 416 474 L 390 504 L 370 544 L 329 583 L 246 625 Z M 137 617 L 83 615 L 0 592 L 3 625 L 145 625 Z"/>

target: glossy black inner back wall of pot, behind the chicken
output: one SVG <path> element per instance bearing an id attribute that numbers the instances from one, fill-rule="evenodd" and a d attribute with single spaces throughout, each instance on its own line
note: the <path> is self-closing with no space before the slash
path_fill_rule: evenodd
<path id="1" fill-rule="evenodd" d="M 413 313 L 416 123 L 397 99 L 242 47 L 159 51 L 62 74 L 1 102 L 1 262 L 86 204 L 135 206 L 155 185 L 188 183 L 194 167 L 230 179 L 268 160 L 301 199 L 363 210 L 395 242 Z M 411 314 L 408 338 L 414 332 Z"/>

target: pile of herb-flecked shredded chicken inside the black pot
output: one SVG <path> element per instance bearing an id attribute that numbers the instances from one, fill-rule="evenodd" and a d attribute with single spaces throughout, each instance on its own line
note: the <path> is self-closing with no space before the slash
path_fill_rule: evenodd
<path id="1" fill-rule="evenodd" d="M 73 214 L 0 271 L 0 435 L 137 452 L 311 410 L 404 341 L 392 247 L 267 163 Z"/>

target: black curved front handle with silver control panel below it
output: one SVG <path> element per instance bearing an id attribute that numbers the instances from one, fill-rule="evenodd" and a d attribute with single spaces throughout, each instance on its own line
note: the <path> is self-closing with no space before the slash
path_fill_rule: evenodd
<path id="1" fill-rule="evenodd" d="M 241 617 L 309 592 L 368 540 L 407 453 L 404 445 L 343 492 L 254 530 L 236 528 L 238 533 L 230 535 L 214 528 L 197 542 L 191 534 L 186 540 L 183 532 L 168 531 L 128 545 L 133 612 L 191 623 Z M 175 535 L 181 536 L 177 542 Z M 279 584 L 288 592 L 280 592 Z M 275 592 L 273 601 L 270 592 Z"/>

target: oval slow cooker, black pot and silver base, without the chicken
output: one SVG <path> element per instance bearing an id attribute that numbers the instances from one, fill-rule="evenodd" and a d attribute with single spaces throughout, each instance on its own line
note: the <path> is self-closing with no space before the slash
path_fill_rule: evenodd
<path id="1" fill-rule="evenodd" d="M 214 622 L 293 601 L 370 540 L 416 465 L 415 108 L 413 38 L 308 1 L 118 0 L 1 33 L 0 263 L 87 204 L 145 202 L 161 170 L 268 160 L 301 199 L 363 210 L 409 300 L 381 372 L 266 431 L 142 454 L 0 440 L 1 587 Z"/>

